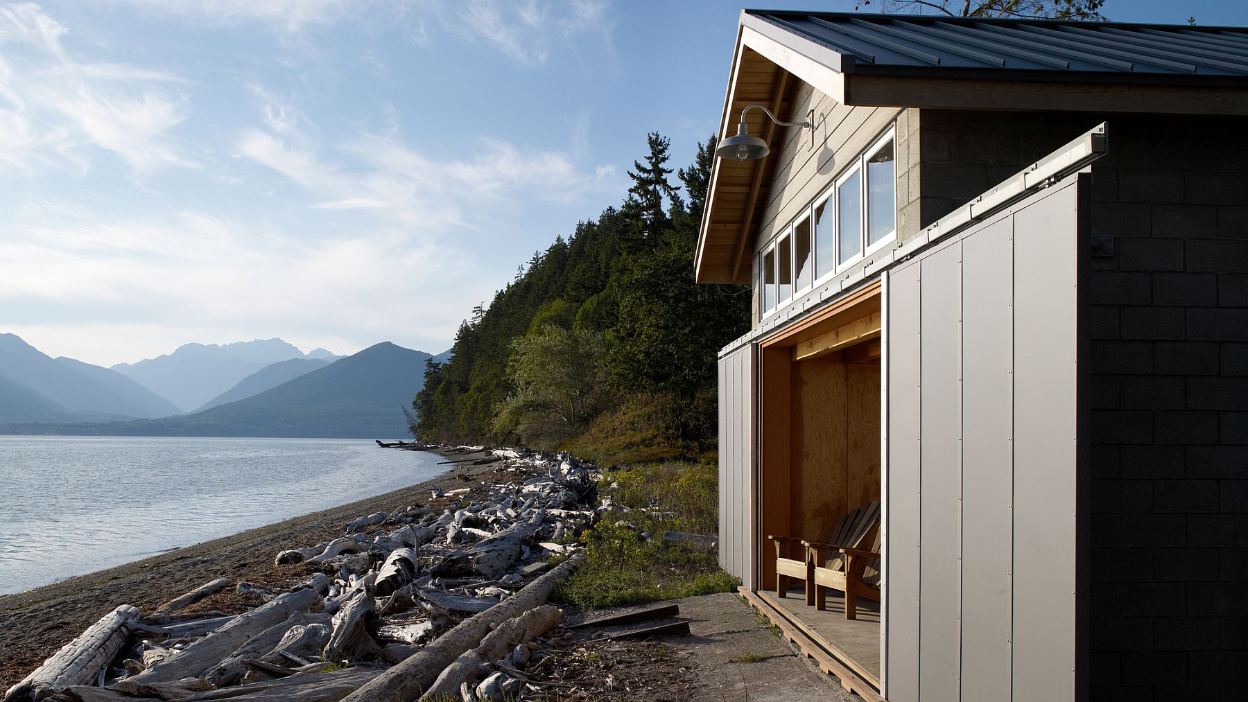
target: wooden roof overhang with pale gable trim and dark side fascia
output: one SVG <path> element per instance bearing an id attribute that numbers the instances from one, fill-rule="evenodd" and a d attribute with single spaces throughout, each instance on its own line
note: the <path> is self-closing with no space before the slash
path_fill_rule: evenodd
<path id="1" fill-rule="evenodd" d="M 753 102 L 781 120 L 801 120 L 789 113 L 801 82 L 850 106 L 1248 115 L 1248 80 L 1242 76 L 899 70 L 857 62 L 743 11 L 719 138 L 736 133 L 741 108 Z M 758 110 L 746 123 L 773 153 L 761 161 L 715 158 L 694 259 L 699 283 L 751 282 L 750 258 L 763 203 L 771 200 L 784 127 Z"/>

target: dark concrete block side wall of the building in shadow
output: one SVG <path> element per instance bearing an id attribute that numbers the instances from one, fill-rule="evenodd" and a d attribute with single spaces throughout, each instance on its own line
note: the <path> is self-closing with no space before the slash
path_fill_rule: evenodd
<path id="1" fill-rule="evenodd" d="M 922 111 L 927 224 L 1101 121 L 1091 697 L 1248 700 L 1248 118 Z M 1091 254 L 1090 254 L 1091 256 Z"/>

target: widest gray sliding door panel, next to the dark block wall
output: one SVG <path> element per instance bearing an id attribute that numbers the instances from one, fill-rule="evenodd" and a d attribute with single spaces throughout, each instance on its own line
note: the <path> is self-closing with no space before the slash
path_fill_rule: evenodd
<path id="1" fill-rule="evenodd" d="M 1017 702 L 1075 697 L 1077 178 L 1015 217 Z"/>

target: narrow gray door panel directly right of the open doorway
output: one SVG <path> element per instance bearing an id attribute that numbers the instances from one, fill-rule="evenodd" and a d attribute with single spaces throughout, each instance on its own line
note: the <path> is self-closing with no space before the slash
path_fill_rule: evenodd
<path id="1" fill-rule="evenodd" d="M 919 701 L 919 266 L 889 276 L 886 692 Z"/>

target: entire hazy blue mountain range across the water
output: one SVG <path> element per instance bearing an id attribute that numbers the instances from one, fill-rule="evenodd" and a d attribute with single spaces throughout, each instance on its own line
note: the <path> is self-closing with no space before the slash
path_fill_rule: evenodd
<path id="1" fill-rule="evenodd" d="M 293 358 L 265 363 L 286 354 Z M 444 360 L 447 355 L 433 358 Z M 388 342 L 343 358 L 324 349 L 303 354 L 281 339 L 267 339 L 187 344 L 172 354 L 109 369 L 64 357 L 52 359 L 14 334 L 0 334 L 0 433 L 402 436 L 407 424 L 401 408 L 421 389 L 429 358 Z M 183 364 L 181 370 L 178 364 Z M 220 387 L 223 378 L 246 365 L 258 369 L 210 397 L 193 414 L 181 414 L 167 399 L 122 373 L 151 382 L 211 372 L 217 378 L 215 387 Z M 196 392 L 210 387 L 201 384 Z"/>

